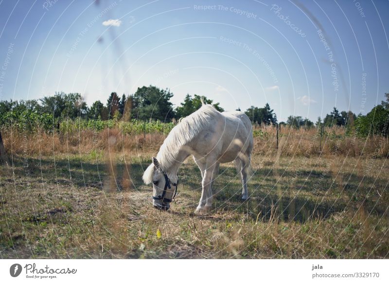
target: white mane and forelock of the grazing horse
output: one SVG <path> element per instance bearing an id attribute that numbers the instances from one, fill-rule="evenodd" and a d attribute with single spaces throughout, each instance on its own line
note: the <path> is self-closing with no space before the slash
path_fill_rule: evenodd
<path id="1" fill-rule="evenodd" d="M 163 141 L 157 159 L 159 166 L 163 171 L 168 170 L 176 162 L 176 157 L 182 146 L 192 141 L 201 131 L 207 129 L 212 124 L 210 119 L 220 115 L 220 112 L 215 109 L 212 105 L 203 105 L 197 111 L 191 115 L 180 120 Z M 143 181 L 149 184 L 153 181 L 154 164 L 144 171 Z"/>

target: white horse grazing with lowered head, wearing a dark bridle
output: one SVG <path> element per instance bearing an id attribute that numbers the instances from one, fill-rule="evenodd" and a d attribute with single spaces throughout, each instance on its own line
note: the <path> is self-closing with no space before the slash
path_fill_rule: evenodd
<path id="1" fill-rule="evenodd" d="M 153 205 L 168 210 L 177 193 L 177 172 L 193 155 L 202 177 L 202 193 L 196 212 L 212 208 L 212 184 L 219 164 L 235 160 L 242 177 L 242 199 L 248 198 L 247 177 L 253 148 L 251 122 L 240 111 L 220 113 L 202 101 L 200 109 L 182 119 L 159 148 L 157 158 L 144 171 L 145 184 L 153 183 Z"/>

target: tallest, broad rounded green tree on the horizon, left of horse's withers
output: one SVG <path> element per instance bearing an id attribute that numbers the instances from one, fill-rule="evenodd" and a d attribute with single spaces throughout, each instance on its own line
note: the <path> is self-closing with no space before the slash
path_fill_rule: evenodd
<path id="1" fill-rule="evenodd" d="M 171 121 L 175 117 L 173 104 L 170 102 L 172 96 L 173 93 L 168 89 L 159 89 L 151 85 L 138 88 L 130 97 L 133 118 Z"/>

